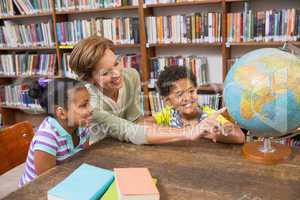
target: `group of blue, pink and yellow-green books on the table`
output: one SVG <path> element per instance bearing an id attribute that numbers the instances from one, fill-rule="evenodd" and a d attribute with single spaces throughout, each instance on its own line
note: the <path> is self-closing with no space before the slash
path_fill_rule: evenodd
<path id="1" fill-rule="evenodd" d="M 117 168 L 113 173 L 83 163 L 48 191 L 48 200 L 159 200 L 155 183 L 147 168 Z"/>

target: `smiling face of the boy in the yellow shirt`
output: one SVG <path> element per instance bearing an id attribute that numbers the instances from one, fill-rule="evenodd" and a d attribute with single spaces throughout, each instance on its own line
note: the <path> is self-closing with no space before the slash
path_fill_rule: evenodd
<path id="1" fill-rule="evenodd" d="M 165 100 L 182 115 L 190 116 L 199 112 L 197 89 L 187 78 L 175 81 Z"/>

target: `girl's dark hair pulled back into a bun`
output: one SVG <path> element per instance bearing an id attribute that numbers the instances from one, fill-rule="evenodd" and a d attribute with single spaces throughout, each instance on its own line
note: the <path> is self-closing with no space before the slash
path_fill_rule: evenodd
<path id="1" fill-rule="evenodd" d="M 56 106 L 68 109 L 69 90 L 83 87 L 80 81 L 69 78 L 53 79 L 48 83 L 34 81 L 29 85 L 28 94 L 38 100 L 48 115 L 55 116 Z"/>

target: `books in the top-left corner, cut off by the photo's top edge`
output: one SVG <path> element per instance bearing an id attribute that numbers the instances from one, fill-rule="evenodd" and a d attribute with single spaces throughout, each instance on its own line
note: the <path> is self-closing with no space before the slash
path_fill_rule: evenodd
<path id="1" fill-rule="evenodd" d="M 17 10 L 14 10 L 14 6 Z M 12 16 L 15 13 L 30 15 L 46 12 L 51 12 L 49 0 L 1 0 L 0 2 L 0 16 Z"/>

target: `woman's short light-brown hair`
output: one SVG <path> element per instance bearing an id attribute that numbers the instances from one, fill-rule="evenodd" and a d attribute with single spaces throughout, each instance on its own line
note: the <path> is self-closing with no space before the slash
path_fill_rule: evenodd
<path id="1" fill-rule="evenodd" d="M 80 80 L 88 80 L 92 76 L 95 65 L 104 55 L 106 49 L 113 50 L 113 42 L 97 35 L 78 42 L 70 56 L 70 67 Z"/>

